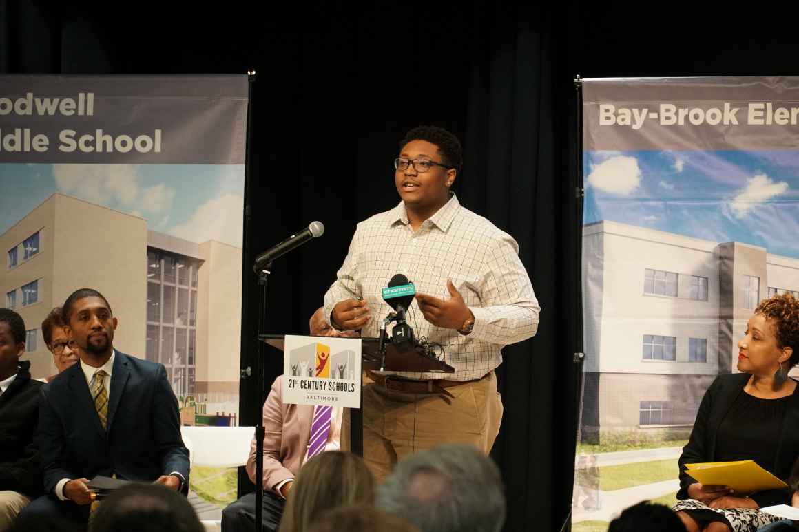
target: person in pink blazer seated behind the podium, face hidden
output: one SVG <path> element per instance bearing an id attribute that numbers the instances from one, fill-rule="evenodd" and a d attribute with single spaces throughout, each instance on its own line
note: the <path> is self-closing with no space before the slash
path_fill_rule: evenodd
<path id="1" fill-rule="evenodd" d="M 340 336 L 324 319 L 324 308 L 311 316 L 311 335 Z M 292 489 L 294 477 L 300 466 L 308 459 L 308 443 L 314 407 L 283 403 L 283 375 L 272 383 L 272 390 L 264 402 L 264 503 L 262 518 L 264 530 L 274 532 L 280 524 L 285 499 Z M 338 451 L 340 449 L 342 409 L 331 411 L 330 428 L 324 447 L 316 450 Z M 252 439 L 247 461 L 247 474 L 256 481 L 256 442 Z M 255 530 L 255 494 L 246 494 L 222 510 L 223 532 Z"/>

